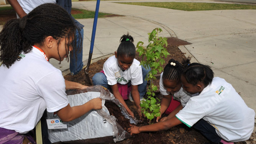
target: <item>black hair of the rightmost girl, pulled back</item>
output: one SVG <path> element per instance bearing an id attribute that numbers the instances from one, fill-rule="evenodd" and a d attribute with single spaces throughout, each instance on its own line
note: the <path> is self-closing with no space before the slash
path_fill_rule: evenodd
<path id="1" fill-rule="evenodd" d="M 214 73 L 210 66 L 194 62 L 187 66 L 182 75 L 192 85 L 203 82 L 207 86 L 212 82 Z"/>

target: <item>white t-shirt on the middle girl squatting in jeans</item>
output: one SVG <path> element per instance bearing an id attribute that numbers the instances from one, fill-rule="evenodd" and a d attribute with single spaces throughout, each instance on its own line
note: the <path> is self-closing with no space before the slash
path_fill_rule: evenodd
<path id="1" fill-rule="evenodd" d="M 133 59 L 131 66 L 122 71 L 117 63 L 117 58 L 111 56 L 103 65 L 103 71 L 107 77 L 108 85 L 115 85 L 117 83 L 125 85 L 131 81 L 132 85 L 139 85 L 143 83 L 142 70 L 140 62 Z"/>

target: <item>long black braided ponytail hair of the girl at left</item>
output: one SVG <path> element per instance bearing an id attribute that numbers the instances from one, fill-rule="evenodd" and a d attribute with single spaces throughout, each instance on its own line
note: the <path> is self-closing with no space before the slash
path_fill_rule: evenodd
<path id="1" fill-rule="evenodd" d="M 74 37 L 76 41 L 75 29 L 74 21 L 66 10 L 53 3 L 40 5 L 23 18 L 10 20 L 3 26 L 0 61 L 9 68 L 16 60 L 20 61 L 21 52 L 30 52 L 34 44 L 43 45 L 47 36 L 57 39 L 58 45 L 60 38 Z M 72 46 L 76 47 L 76 44 Z M 68 55 L 69 51 L 66 52 Z"/>

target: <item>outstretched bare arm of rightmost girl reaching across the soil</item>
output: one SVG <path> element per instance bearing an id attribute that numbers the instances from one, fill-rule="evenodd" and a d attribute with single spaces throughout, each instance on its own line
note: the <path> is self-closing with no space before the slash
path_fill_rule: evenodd
<path id="1" fill-rule="evenodd" d="M 172 117 L 171 119 L 168 119 L 167 121 L 154 123 L 146 126 L 131 126 L 131 128 L 128 128 L 128 132 L 132 134 L 138 134 L 145 131 L 161 131 L 161 130 L 167 130 L 170 129 L 178 124 L 181 124 L 182 122 L 177 119 L 176 117 Z"/>

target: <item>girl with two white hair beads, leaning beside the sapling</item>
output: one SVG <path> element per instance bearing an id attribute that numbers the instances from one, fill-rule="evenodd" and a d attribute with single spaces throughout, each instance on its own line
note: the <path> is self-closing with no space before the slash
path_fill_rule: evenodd
<path id="1" fill-rule="evenodd" d="M 188 64 L 190 64 L 190 58 L 184 59 L 182 64 L 179 61 L 170 59 L 168 64 L 164 67 L 164 72 L 161 73 L 159 80 L 159 89 L 163 95 L 160 104 L 161 115 L 163 113 L 169 115 L 174 110 L 176 112 L 171 115 L 175 115 L 185 106 L 192 96 L 181 87 L 181 74 L 184 70 L 184 65 Z M 156 118 L 156 121 L 158 122 L 160 118 L 161 116 Z"/>

